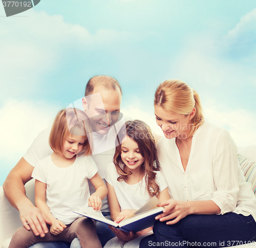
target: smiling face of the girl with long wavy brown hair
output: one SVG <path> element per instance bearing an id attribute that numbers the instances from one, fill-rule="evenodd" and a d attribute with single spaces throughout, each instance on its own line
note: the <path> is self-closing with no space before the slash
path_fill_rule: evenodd
<path id="1" fill-rule="evenodd" d="M 140 170 L 145 159 L 140 153 L 138 144 L 127 136 L 126 140 L 122 142 L 121 150 L 121 159 L 127 168 L 132 172 Z"/>

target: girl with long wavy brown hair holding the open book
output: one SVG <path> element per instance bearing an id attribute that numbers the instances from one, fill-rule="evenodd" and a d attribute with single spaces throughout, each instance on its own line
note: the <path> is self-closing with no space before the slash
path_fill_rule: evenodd
<path id="1" fill-rule="evenodd" d="M 162 202 L 169 199 L 167 186 L 158 169 L 157 151 L 150 127 L 139 120 L 127 121 L 118 134 L 114 163 L 106 169 L 111 219 L 119 223 L 140 209 L 154 195 Z M 110 227 L 123 241 L 132 240 L 151 231 L 125 233 Z M 114 238 L 117 242 L 117 238 Z M 111 242 L 111 244 L 110 244 Z M 106 247 L 114 247 L 113 240 Z"/>

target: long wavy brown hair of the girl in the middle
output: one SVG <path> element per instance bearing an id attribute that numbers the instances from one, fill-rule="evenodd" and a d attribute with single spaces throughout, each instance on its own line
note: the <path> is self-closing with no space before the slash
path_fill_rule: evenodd
<path id="1" fill-rule="evenodd" d="M 148 126 L 145 122 L 135 120 L 135 121 L 127 121 L 125 122 L 125 129 L 119 131 L 117 136 L 117 146 L 114 154 L 113 162 L 115 164 L 117 173 L 119 177 L 117 181 L 123 181 L 129 175 L 132 174 L 131 171 L 125 172 L 125 165 L 121 159 L 121 142 L 126 137 L 131 138 L 138 144 L 138 148 L 140 150 L 140 154 L 144 157 L 145 161 L 141 165 L 142 173 L 145 174 L 145 182 L 148 193 L 153 195 L 158 195 L 160 193 L 160 188 L 158 183 L 155 181 L 156 171 L 159 170 L 159 166 L 157 163 L 157 149 L 154 135 L 151 131 L 150 126 Z M 124 167 L 120 167 L 123 165 Z"/>

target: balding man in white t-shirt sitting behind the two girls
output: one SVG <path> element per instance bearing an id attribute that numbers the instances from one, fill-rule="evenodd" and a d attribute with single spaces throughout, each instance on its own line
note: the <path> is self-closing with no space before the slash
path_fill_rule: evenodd
<path id="1" fill-rule="evenodd" d="M 108 128 L 111 126 L 111 123 L 115 123 L 115 116 L 120 112 L 122 91 L 120 84 L 116 79 L 110 76 L 101 75 L 91 78 L 86 86 L 86 96 L 96 93 L 100 93 L 104 109 L 102 109 L 102 107 L 96 107 L 96 103 L 87 102 L 87 98 L 83 100 L 83 107 L 89 118 L 104 114 L 98 121 L 95 121 L 94 126 L 96 130 L 94 131 L 101 135 L 104 134 L 105 137 L 105 135 L 108 136 Z M 50 224 L 50 221 L 42 215 L 40 210 L 26 197 L 24 185 L 32 178 L 31 174 L 37 161 L 52 153 L 51 149 L 49 149 L 48 137 L 49 130 L 44 130 L 38 135 L 26 154 L 10 171 L 3 184 L 5 195 L 10 204 L 19 211 L 20 220 L 24 227 L 27 230 L 31 229 L 35 235 L 40 235 L 41 237 L 44 237 L 45 233 L 48 232 L 46 223 Z M 114 148 L 111 150 L 105 149 L 101 153 L 94 153 L 94 155 L 92 155 L 101 177 L 104 177 L 104 169 L 112 162 L 113 155 Z M 106 199 L 102 201 L 101 210 L 105 212 L 105 215 L 108 215 L 109 208 Z M 96 230 L 102 246 L 106 241 L 115 236 L 109 230 L 108 226 L 100 222 L 96 224 Z M 61 242 L 60 246 L 57 242 L 51 244 L 54 245 L 51 247 L 69 247 L 66 242 Z M 34 244 L 33 247 L 36 247 L 36 245 L 37 244 Z"/>

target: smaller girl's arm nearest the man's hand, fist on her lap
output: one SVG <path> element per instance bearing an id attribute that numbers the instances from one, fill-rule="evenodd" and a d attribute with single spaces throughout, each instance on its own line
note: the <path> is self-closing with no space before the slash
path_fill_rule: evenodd
<path id="1" fill-rule="evenodd" d="M 46 184 L 38 180 L 35 181 L 35 206 L 41 210 L 52 223 L 50 232 L 54 235 L 61 233 L 67 226 L 60 220 L 54 218 L 46 204 Z"/>

